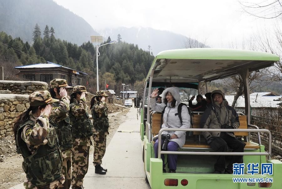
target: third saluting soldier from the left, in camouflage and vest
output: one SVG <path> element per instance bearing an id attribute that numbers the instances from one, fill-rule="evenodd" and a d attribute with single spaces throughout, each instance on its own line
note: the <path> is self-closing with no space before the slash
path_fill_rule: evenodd
<path id="1" fill-rule="evenodd" d="M 83 178 L 88 171 L 89 150 L 93 125 L 87 113 L 86 88 L 73 87 L 70 95 L 70 123 L 72 125 L 75 155 L 72 159 L 72 188 L 82 188 Z"/>

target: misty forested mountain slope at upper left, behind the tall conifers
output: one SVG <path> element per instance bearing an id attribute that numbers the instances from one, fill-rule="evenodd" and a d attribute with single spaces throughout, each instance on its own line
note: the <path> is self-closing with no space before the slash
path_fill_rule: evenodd
<path id="1" fill-rule="evenodd" d="M 98 33 L 81 17 L 52 0 L 0 0 L 0 31 L 32 41 L 35 24 L 55 29 L 56 38 L 82 44 Z"/>

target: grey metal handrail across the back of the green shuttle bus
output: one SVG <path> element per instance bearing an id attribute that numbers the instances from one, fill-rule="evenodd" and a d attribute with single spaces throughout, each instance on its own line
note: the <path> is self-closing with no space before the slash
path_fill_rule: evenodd
<path id="1" fill-rule="evenodd" d="M 268 133 L 268 152 L 189 152 L 189 151 L 162 151 L 161 142 L 158 143 L 158 158 L 161 154 L 178 154 L 178 155 L 268 155 L 268 160 L 271 160 L 271 138 L 272 135 L 267 129 L 176 129 L 176 128 L 163 128 L 159 130 L 158 139 L 161 141 L 161 134 L 163 131 L 217 131 L 217 132 L 262 132 Z"/>

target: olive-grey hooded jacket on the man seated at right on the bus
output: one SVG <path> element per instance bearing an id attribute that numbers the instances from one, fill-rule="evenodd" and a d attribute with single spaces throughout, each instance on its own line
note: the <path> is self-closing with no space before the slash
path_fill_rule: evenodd
<path id="1" fill-rule="evenodd" d="M 212 95 L 214 93 L 222 94 L 223 101 L 221 105 L 212 101 L 212 106 L 209 106 L 201 117 L 200 127 L 203 129 L 225 129 L 222 128 L 222 125 L 227 124 L 232 125 L 234 129 L 238 129 L 240 124 L 236 110 L 227 105 L 224 94 L 220 90 L 213 91 Z M 205 138 L 208 138 L 209 136 L 219 137 L 220 133 L 221 132 L 202 132 Z M 227 132 L 227 134 L 235 137 L 231 132 Z"/>

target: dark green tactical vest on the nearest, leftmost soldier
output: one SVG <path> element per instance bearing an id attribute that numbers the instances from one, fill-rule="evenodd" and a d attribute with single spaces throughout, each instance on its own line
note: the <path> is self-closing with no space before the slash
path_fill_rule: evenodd
<path id="1" fill-rule="evenodd" d="M 47 144 L 39 145 L 33 154 L 21 138 L 21 133 L 26 125 L 34 126 L 34 121 L 28 120 L 17 130 L 17 152 L 24 158 L 23 169 L 28 180 L 34 186 L 45 186 L 61 178 L 62 158 L 58 145 L 55 128 L 50 125 L 47 135 Z"/>

